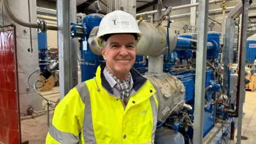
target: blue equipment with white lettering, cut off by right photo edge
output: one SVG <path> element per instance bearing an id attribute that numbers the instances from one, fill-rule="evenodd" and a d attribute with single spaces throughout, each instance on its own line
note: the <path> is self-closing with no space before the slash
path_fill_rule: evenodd
<path id="1" fill-rule="evenodd" d="M 247 62 L 254 62 L 255 59 L 256 59 L 256 41 L 247 41 L 245 60 Z"/>

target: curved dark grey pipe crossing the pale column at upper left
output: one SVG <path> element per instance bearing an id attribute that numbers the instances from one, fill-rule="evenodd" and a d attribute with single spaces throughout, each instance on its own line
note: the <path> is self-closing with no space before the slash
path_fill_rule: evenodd
<path id="1" fill-rule="evenodd" d="M 23 21 L 17 17 L 15 17 L 15 15 L 13 14 L 13 12 L 10 9 L 10 5 L 8 0 L 3 0 L 3 5 L 4 5 L 4 9 L 6 11 L 6 13 L 9 15 L 9 17 L 16 23 L 18 23 L 19 25 L 23 26 L 23 27 L 29 27 L 29 28 L 43 28 L 43 25 L 38 24 L 38 23 L 30 23 L 30 22 L 26 22 Z M 46 26 L 46 29 L 48 30 L 58 30 L 57 26 Z"/>

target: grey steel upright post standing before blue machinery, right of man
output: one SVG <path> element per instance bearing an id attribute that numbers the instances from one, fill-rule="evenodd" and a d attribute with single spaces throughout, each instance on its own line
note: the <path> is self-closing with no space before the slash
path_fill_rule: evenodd
<path id="1" fill-rule="evenodd" d="M 198 47 L 196 50 L 195 121 L 193 143 L 203 143 L 207 25 L 209 0 L 199 0 Z"/>

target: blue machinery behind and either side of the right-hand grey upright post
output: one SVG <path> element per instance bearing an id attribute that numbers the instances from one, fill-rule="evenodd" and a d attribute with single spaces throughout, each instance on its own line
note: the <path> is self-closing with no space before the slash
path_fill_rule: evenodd
<path id="1" fill-rule="evenodd" d="M 220 52 L 220 34 L 214 31 L 210 31 L 207 35 L 207 61 L 209 62 L 209 67 L 206 70 L 206 77 L 205 77 L 205 109 L 204 109 L 204 129 L 203 129 L 203 137 L 209 133 L 215 123 L 215 115 L 217 111 L 218 103 L 215 99 L 218 98 L 218 94 L 221 93 L 221 83 L 218 80 L 220 76 L 217 74 L 217 71 L 214 68 L 216 59 L 219 58 Z M 164 66 L 167 65 L 167 68 L 164 69 L 164 72 L 170 73 L 176 76 L 180 81 L 182 81 L 183 85 L 185 86 L 185 101 L 187 104 L 193 107 L 192 111 L 189 111 L 189 115 L 191 120 L 193 121 L 193 114 L 194 114 L 194 103 L 195 103 L 195 68 L 193 65 L 193 60 L 189 63 L 192 65 L 183 65 L 183 60 L 188 59 L 195 59 L 192 57 L 193 51 L 196 50 L 197 41 L 196 39 L 192 39 L 193 36 L 189 34 L 180 35 L 177 39 L 177 45 L 174 49 L 177 52 L 177 58 L 180 59 L 180 62 L 177 62 L 176 65 L 173 66 L 169 63 L 164 63 Z M 194 60 L 194 62 L 195 62 Z M 194 63 L 195 64 L 195 63 Z M 230 73 L 229 73 L 230 75 Z M 183 113 L 183 112 L 182 112 Z M 220 113 L 218 113 L 220 114 Z M 221 115 L 221 114 L 220 114 Z M 173 118 L 176 117 L 176 118 Z M 172 125 L 172 129 L 177 131 L 179 126 L 183 127 L 184 123 L 188 123 L 187 121 L 180 120 L 182 116 L 170 116 L 169 119 L 166 120 L 165 124 Z M 188 126 L 187 132 L 184 129 L 179 129 L 185 137 L 193 138 L 193 130 L 191 127 Z M 184 127 L 183 127 L 184 128 Z M 185 141 L 188 143 L 188 141 Z"/>

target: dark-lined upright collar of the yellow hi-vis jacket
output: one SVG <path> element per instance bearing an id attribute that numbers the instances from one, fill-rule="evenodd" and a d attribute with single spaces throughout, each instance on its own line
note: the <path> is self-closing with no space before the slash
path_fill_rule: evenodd
<path id="1" fill-rule="evenodd" d="M 96 72 L 96 79 L 101 83 L 101 85 L 111 94 L 114 94 L 113 89 L 111 88 L 110 84 L 106 80 L 106 77 L 103 74 L 103 70 L 106 67 L 106 63 L 102 63 L 98 68 Z M 138 73 L 137 70 L 134 68 L 131 68 L 130 73 L 132 75 L 132 80 L 133 80 L 133 87 L 132 89 L 134 91 L 138 91 L 146 82 L 147 78 L 143 77 Z"/>

